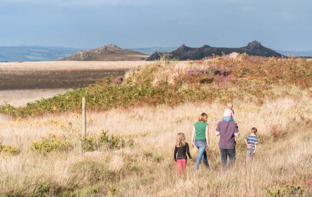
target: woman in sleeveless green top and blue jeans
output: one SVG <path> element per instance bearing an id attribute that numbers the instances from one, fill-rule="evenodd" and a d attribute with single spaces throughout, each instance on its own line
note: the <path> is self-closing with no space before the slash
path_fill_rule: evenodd
<path id="1" fill-rule="evenodd" d="M 207 123 L 207 117 L 206 113 L 202 113 L 198 122 L 195 123 L 193 127 L 192 148 L 194 148 L 195 145 L 198 149 L 198 155 L 193 170 L 198 169 L 202 158 L 207 169 L 210 169 L 207 160 L 207 152 L 205 151 L 205 148 L 207 148 L 207 150 L 209 149 L 209 125 Z"/>

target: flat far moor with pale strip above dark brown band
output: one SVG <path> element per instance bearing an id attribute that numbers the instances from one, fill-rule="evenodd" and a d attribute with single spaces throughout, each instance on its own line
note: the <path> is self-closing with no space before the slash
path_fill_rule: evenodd
<path id="1" fill-rule="evenodd" d="M 124 75 L 126 70 L 144 64 L 144 61 L 0 63 L 0 90 L 86 87 L 105 76 Z"/>

